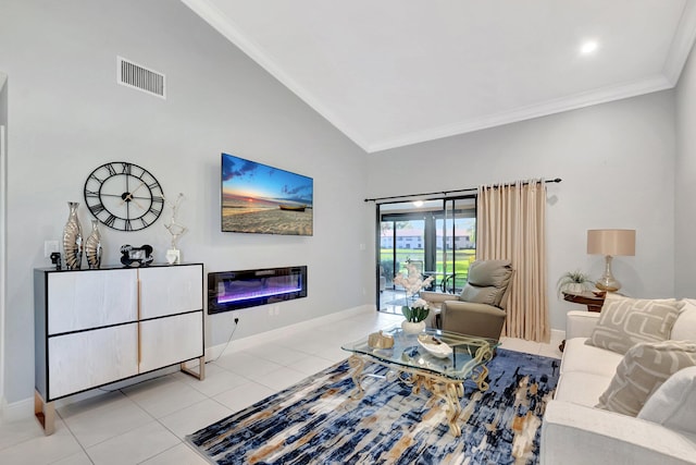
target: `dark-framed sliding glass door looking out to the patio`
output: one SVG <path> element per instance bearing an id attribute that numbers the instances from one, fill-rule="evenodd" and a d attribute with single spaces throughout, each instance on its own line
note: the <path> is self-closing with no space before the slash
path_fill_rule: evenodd
<path id="1" fill-rule="evenodd" d="M 475 259 L 475 197 L 377 205 L 378 308 L 400 313 L 406 292 L 394 277 L 413 264 L 434 282 L 430 290 L 459 292 Z"/>

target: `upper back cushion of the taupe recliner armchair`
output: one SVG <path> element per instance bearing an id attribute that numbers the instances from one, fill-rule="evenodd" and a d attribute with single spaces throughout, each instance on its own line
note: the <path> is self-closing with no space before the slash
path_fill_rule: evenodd
<path id="1" fill-rule="evenodd" d="M 510 260 L 476 260 L 469 266 L 460 301 L 500 306 L 512 277 Z"/>

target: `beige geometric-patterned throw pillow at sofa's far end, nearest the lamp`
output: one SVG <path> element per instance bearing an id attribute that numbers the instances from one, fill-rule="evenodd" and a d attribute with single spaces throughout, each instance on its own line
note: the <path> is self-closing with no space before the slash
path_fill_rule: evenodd
<path id="1" fill-rule="evenodd" d="M 625 354 L 638 342 L 659 342 L 670 332 L 682 303 L 607 294 L 597 326 L 585 344 Z"/>

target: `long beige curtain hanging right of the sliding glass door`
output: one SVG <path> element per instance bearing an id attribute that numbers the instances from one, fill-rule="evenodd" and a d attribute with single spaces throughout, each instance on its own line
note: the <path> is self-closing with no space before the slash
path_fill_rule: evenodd
<path id="1" fill-rule="evenodd" d="M 514 268 L 502 334 L 548 342 L 544 182 L 478 187 L 476 229 L 476 258 L 509 259 Z"/>

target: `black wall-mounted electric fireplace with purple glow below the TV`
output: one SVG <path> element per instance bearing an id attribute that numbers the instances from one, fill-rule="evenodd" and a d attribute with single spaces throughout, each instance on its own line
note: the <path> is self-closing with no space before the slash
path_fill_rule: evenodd
<path id="1" fill-rule="evenodd" d="M 307 267 L 208 273 L 208 314 L 307 297 Z"/>

